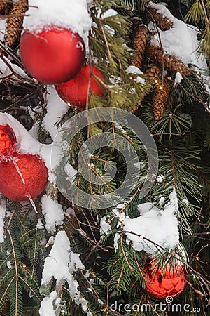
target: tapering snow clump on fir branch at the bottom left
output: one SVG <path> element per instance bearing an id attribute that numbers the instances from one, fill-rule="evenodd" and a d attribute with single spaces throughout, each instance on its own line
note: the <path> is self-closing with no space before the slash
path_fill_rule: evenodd
<path id="1" fill-rule="evenodd" d="M 73 272 L 76 272 L 78 269 L 85 269 L 79 256 L 79 254 L 75 254 L 71 251 L 71 245 L 66 232 L 58 232 L 55 236 L 50 255 L 45 259 L 41 287 L 45 287 L 52 278 L 56 280 L 56 284 L 59 285 L 59 287 L 65 282 L 68 282 L 68 290 L 72 300 L 77 305 L 81 304 L 83 311 L 87 312 L 87 301 L 80 296 L 80 292 L 78 291 L 78 282 L 73 277 Z M 54 292 L 52 292 L 47 298 L 43 299 L 41 303 L 41 312 L 45 312 L 45 309 L 50 310 L 50 308 L 52 310 L 53 300 L 55 300 Z M 51 314 L 45 312 L 45 314 L 43 313 L 41 315 L 45 316 Z"/>

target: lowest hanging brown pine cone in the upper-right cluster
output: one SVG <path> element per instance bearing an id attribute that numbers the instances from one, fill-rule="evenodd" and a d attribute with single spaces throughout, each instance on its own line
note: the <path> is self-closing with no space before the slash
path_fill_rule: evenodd
<path id="1" fill-rule="evenodd" d="M 164 81 L 158 81 L 158 84 L 155 86 L 155 92 L 153 95 L 153 115 L 155 120 L 160 119 L 162 117 L 163 112 L 165 111 L 165 107 L 167 105 L 167 98 L 169 96 L 169 80 L 164 79 Z"/>

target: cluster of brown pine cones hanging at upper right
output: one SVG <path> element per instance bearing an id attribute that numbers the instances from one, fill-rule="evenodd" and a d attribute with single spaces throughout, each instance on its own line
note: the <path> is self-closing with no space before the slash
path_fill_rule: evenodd
<path id="1" fill-rule="evenodd" d="M 173 23 L 161 13 L 158 13 L 155 8 L 148 7 L 146 14 L 148 19 L 155 22 L 155 25 L 162 29 L 162 31 L 167 31 L 173 27 Z M 150 63 L 146 65 L 145 74 L 146 79 L 154 86 L 152 107 L 154 118 L 158 120 L 165 111 L 170 89 L 170 81 L 167 77 L 163 76 L 162 70 L 174 73 L 179 72 L 183 76 L 190 76 L 193 72 L 174 55 L 164 54 L 162 48 L 151 45 L 148 27 L 143 25 L 140 20 L 134 20 L 133 22 L 131 46 L 134 49 L 134 59 L 132 60 L 134 66 L 141 69 L 144 58 L 147 57 L 147 60 L 150 60 Z M 138 107 L 139 105 L 136 105 L 133 112 Z"/>

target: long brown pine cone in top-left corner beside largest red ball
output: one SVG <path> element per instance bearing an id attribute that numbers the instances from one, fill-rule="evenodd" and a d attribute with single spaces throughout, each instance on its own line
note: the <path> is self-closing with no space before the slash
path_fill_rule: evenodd
<path id="1" fill-rule="evenodd" d="M 13 46 L 16 39 L 18 39 L 18 34 L 22 30 L 22 22 L 24 18 L 24 13 L 27 11 L 28 3 L 27 0 L 19 0 L 15 2 L 10 15 L 10 18 L 6 21 L 6 44 L 7 46 Z"/>

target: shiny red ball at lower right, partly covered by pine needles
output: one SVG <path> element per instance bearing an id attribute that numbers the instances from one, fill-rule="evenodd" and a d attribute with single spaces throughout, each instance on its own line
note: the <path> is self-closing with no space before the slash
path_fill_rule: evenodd
<path id="1" fill-rule="evenodd" d="M 151 261 L 144 266 L 148 294 L 159 300 L 179 295 L 186 286 L 183 267 L 176 265 L 172 270 L 171 264 L 167 263 L 165 273 L 162 273 L 160 269 L 152 269 L 154 264 L 155 261 Z"/>

